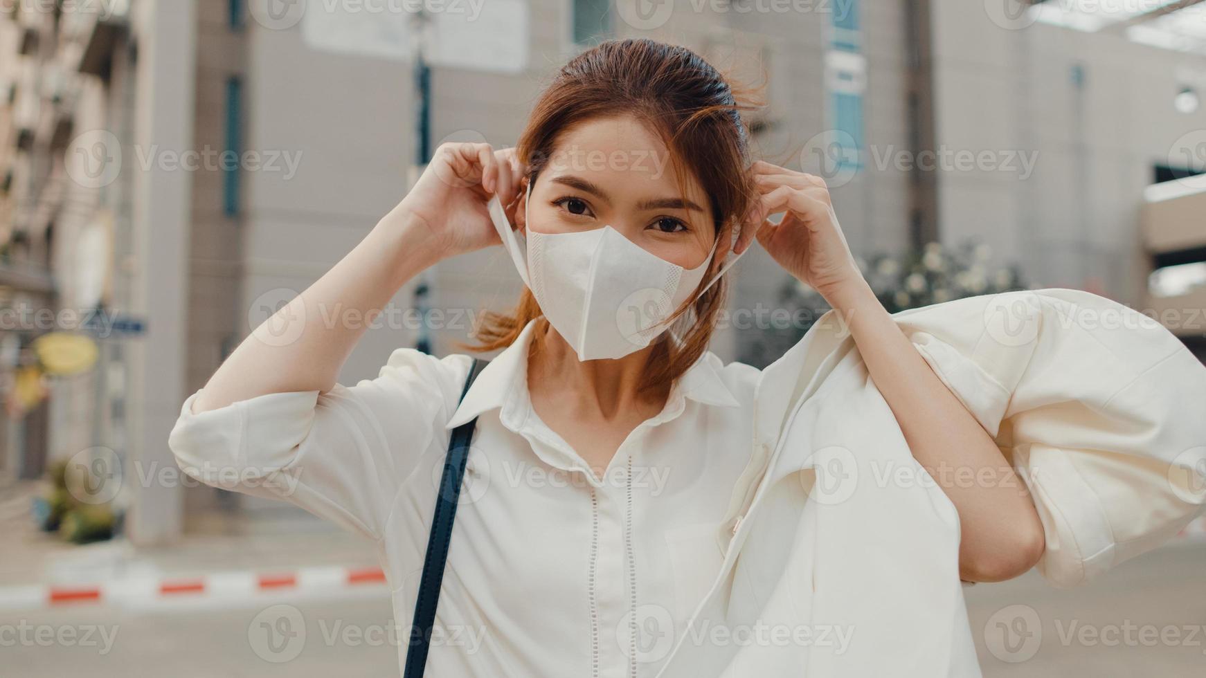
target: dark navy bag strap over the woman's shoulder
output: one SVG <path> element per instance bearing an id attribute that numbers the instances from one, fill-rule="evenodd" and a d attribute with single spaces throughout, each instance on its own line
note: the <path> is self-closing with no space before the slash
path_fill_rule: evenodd
<path id="1" fill-rule="evenodd" d="M 464 381 L 461 400 L 469 393 L 469 387 L 488 364 L 488 360 L 473 359 L 469 376 Z M 461 499 L 461 482 L 464 478 L 466 462 L 469 459 L 469 442 L 473 441 L 473 429 L 478 424 L 474 417 L 469 421 L 452 429 L 449 438 L 449 453 L 444 458 L 444 474 L 435 494 L 435 512 L 432 517 L 432 531 L 427 536 L 427 555 L 423 558 L 423 574 L 418 579 L 418 597 L 415 600 L 415 619 L 410 625 L 410 648 L 406 652 L 404 678 L 422 678 L 427 668 L 427 650 L 432 641 L 432 629 L 435 625 L 435 606 L 440 602 L 440 583 L 444 580 L 444 565 L 449 559 L 449 542 L 452 540 L 452 521 L 456 519 L 456 506 Z"/>

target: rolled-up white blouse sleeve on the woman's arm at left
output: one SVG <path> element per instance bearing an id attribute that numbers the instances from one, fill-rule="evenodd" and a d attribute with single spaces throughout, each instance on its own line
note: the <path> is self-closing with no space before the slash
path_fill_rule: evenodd
<path id="1" fill-rule="evenodd" d="M 169 436 L 188 476 L 283 500 L 370 538 L 420 456 L 447 438 L 467 355 L 397 349 L 374 379 L 329 391 L 260 395 L 194 413 L 191 395 Z"/>

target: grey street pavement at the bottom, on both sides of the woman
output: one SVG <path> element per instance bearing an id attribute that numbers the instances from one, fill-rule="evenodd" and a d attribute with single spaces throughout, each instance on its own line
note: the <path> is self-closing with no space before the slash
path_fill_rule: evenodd
<path id="1" fill-rule="evenodd" d="M 1078 589 L 1031 573 L 967 595 L 988 678 L 1206 676 L 1206 542 L 1165 547 Z M 294 623 L 282 627 L 285 618 Z M 398 676 L 391 618 L 384 586 L 4 612 L 0 677 Z"/>

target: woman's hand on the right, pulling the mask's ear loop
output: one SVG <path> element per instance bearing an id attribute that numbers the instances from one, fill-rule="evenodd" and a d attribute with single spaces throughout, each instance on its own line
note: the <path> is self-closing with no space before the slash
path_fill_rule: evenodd
<path id="1" fill-rule="evenodd" d="M 842 235 L 825 181 L 759 160 L 750 167 L 760 199 L 745 228 L 797 279 L 831 303 L 841 291 L 866 284 Z M 775 224 L 769 214 L 785 212 Z"/>

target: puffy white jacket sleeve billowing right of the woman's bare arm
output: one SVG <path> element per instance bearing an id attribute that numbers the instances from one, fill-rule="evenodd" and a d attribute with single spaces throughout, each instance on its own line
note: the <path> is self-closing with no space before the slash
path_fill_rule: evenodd
<path id="1" fill-rule="evenodd" d="M 1026 482 L 1052 583 L 1089 580 L 1202 512 L 1206 367 L 1151 318 L 1048 289 L 896 319 Z"/>

